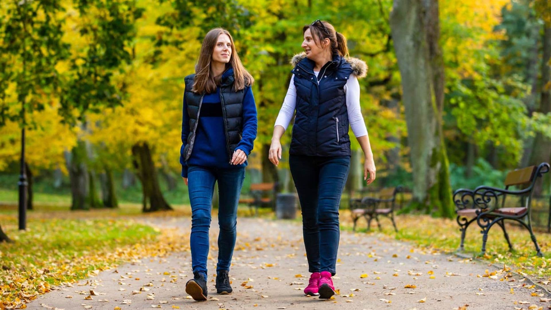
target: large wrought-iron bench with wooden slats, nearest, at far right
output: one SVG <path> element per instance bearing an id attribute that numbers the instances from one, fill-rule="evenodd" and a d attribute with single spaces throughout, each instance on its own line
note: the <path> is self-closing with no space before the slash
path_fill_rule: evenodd
<path id="1" fill-rule="evenodd" d="M 457 223 L 461 231 L 460 250 L 464 250 L 463 243 L 467 227 L 476 221 L 482 228 L 482 253 L 486 252 L 488 232 L 494 224 L 498 224 L 503 230 L 509 249 L 512 250 L 511 240 L 505 229 L 504 220 L 514 220 L 526 227 L 530 232 L 532 242 L 536 247 L 538 256 L 543 256 L 536 236 L 532 230 L 531 202 L 534 184 L 544 173 L 549 172 L 549 164 L 541 163 L 538 166 L 530 166 L 509 172 L 505 178 L 505 189 L 490 186 L 478 186 L 474 190 L 458 189 L 453 193 L 453 202 L 456 206 Z M 520 190 L 510 190 L 510 186 L 527 185 Z M 505 198 L 516 196 L 519 198 L 518 207 L 505 207 Z"/>

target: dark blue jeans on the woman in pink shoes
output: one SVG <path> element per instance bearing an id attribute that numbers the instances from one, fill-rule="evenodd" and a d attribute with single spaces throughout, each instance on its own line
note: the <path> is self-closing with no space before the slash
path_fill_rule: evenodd
<path id="1" fill-rule="evenodd" d="M 335 275 L 339 248 L 339 204 L 350 157 L 289 156 L 299 194 L 302 234 L 310 272 Z"/>

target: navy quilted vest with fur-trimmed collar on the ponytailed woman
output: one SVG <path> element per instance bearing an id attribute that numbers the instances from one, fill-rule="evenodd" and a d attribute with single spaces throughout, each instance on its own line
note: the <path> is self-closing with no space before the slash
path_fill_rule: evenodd
<path id="1" fill-rule="evenodd" d="M 314 61 L 303 57 L 293 68 L 296 116 L 289 154 L 350 156 L 344 85 L 354 71 L 338 55 L 321 68 L 318 77 L 314 66 Z"/>

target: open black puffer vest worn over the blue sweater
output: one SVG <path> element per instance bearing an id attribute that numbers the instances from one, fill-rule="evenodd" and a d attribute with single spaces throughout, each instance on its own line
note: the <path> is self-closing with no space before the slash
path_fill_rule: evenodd
<path id="1" fill-rule="evenodd" d="M 237 143 L 241 141 L 241 133 L 243 127 L 243 98 L 245 97 L 245 90 L 234 90 L 234 71 L 232 68 L 226 70 L 222 76 L 220 82 L 220 101 L 222 103 L 222 116 L 224 119 L 224 129 L 226 133 L 226 151 L 228 156 L 235 151 Z M 190 74 L 185 77 L 186 90 L 184 97 L 187 103 L 187 113 L 190 115 L 190 134 L 187 136 L 187 144 L 183 149 L 185 154 L 185 161 L 190 158 L 193 151 L 193 144 L 195 143 L 195 134 L 197 131 L 197 124 L 199 120 L 199 114 L 201 113 L 201 104 L 203 103 L 203 95 L 193 93 L 193 79 L 195 74 Z M 228 158 L 228 161 L 230 159 Z"/>

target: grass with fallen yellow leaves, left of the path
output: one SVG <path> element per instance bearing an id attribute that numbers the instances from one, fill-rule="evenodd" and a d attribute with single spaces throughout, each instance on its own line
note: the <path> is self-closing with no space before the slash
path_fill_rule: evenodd
<path id="1" fill-rule="evenodd" d="M 18 231 L 13 216 L 0 215 L 0 222 L 14 240 L 0 243 L 0 309 L 25 308 L 52 285 L 72 283 L 125 261 L 189 248 L 176 229 L 159 232 L 129 218 L 29 218 L 26 231 Z"/>

